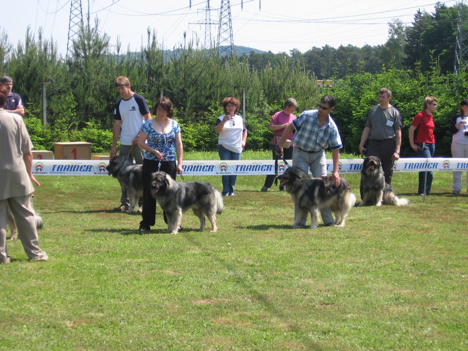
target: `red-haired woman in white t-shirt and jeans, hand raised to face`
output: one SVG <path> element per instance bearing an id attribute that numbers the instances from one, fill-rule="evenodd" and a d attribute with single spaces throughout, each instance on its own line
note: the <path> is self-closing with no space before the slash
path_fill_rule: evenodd
<path id="1" fill-rule="evenodd" d="M 240 160 L 247 139 L 247 129 L 244 119 L 237 115 L 240 101 L 229 97 L 223 100 L 224 115 L 216 119 L 215 132 L 218 137 L 219 158 L 225 160 Z M 229 171 L 229 168 L 228 168 Z M 234 185 L 237 176 L 221 176 L 223 181 L 223 196 L 234 196 Z"/>

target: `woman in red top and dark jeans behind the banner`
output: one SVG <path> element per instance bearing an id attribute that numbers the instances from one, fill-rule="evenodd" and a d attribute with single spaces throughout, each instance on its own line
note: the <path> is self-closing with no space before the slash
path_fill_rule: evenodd
<path id="1" fill-rule="evenodd" d="M 431 158 L 434 156 L 435 138 L 434 138 L 434 120 L 432 114 L 437 108 L 437 99 L 427 97 L 424 99 L 424 110 L 414 116 L 411 126 L 409 127 L 409 143 L 418 157 Z M 416 131 L 416 136 L 414 136 Z M 426 179 L 426 191 L 424 189 L 424 179 Z M 430 194 L 430 186 L 432 184 L 432 172 L 419 172 L 418 194 Z"/>

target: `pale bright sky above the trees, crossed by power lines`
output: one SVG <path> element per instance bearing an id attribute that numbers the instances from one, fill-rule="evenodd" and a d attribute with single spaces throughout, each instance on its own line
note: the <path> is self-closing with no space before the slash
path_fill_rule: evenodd
<path id="1" fill-rule="evenodd" d="M 147 42 L 148 28 L 156 31 L 157 41 L 164 49 L 183 45 L 184 33 L 187 42 L 193 39 L 201 47 L 205 42 L 208 45 L 210 38 L 216 41 L 222 1 L 231 5 L 234 45 L 273 53 L 289 53 L 292 49 L 304 53 L 313 46 L 327 44 L 335 48 L 384 44 L 391 20 L 400 19 L 411 25 L 418 9 L 432 13 L 436 3 L 433 0 L 81 0 L 81 8 L 84 20 L 89 12 L 91 24 L 98 19 L 98 28 L 110 37 L 110 44 L 116 45 L 119 40 L 126 52 L 140 51 L 141 44 Z M 453 6 L 459 1 L 440 2 Z M 41 28 L 43 38 L 55 42 L 59 53 L 65 56 L 71 0 L 0 0 L 0 3 L 3 6 L 14 3 L 18 11 L 7 11 L 11 16 L 3 16 L 0 21 L 0 32 L 7 34 L 14 47 L 24 42 L 28 26 L 36 39 Z"/>

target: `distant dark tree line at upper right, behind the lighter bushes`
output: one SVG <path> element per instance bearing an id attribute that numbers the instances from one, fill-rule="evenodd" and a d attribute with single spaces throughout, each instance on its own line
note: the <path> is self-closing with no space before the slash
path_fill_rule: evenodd
<path id="1" fill-rule="evenodd" d="M 313 46 L 304 53 L 297 49 L 291 50 L 289 54 L 251 51 L 249 55 L 243 56 L 257 69 L 286 56 L 291 62 L 301 62 L 306 70 L 314 72 L 319 79 L 343 78 L 362 68 L 375 74 L 383 66 L 415 69 L 418 65 L 425 72 L 430 69 L 432 58 L 439 61 L 441 72 L 448 73 L 454 70 L 458 29 L 462 33 L 468 31 L 467 16 L 468 8 L 462 3 L 451 7 L 437 3 L 433 13 L 418 10 L 411 25 L 406 26 L 401 20 L 392 20 L 389 23 L 389 38 L 381 45 L 341 45 L 338 48 L 325 45 Z"/>

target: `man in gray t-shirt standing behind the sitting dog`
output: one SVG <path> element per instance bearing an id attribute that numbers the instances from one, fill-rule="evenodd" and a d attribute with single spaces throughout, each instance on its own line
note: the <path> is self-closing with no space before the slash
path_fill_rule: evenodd
<path id="1" fill-rule="evenodd" d="M 361 155 L 380 158 L 387 184 L 391 183 L 393 161 L 400 158 L 401 146 L 401 115 L 396 107 L 390 105 L 390 99 L 391 91 L 380 89 L 379 104 L 370 108 L 359 144 Z M 366 149 L 364 144 L 368 138 Z"/>

